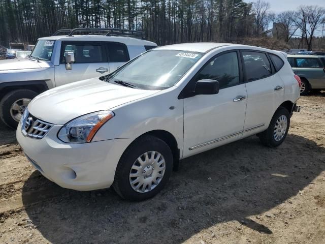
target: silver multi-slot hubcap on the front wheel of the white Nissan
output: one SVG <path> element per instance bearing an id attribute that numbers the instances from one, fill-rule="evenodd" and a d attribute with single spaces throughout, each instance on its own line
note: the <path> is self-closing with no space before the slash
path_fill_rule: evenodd
<path id="1" fill-rule="evenodd" d="M 136 192 L 150 192 L 159 185 L 165 171 L 163 155 L 157 151 L 147 151 L 133 163 L 129 172 L 129 183 Z"/>

